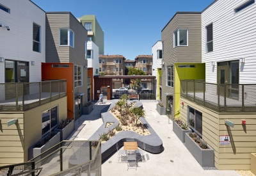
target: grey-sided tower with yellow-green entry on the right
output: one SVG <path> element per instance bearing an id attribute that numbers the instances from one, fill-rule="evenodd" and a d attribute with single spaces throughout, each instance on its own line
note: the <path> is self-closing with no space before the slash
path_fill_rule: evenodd
<path id="1" fill-rule="evenodd" d="M 205 79 L 201 12 L 177 12 L 162 30 L 162 97 L 166 114 L 179 116 L 180 79 Z"/>

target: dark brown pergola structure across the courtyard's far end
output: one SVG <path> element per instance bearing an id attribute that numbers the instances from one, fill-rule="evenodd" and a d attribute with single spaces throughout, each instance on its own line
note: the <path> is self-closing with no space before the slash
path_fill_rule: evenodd
<path id="1" fill-rule="evenodd" d="M 106 89 L 107 99 L 111 100 L 113 83 L 112 79 L 156 79 L 156 76 L 93 76 L 94 79 L 94 99 L 99 100 L 102 88 Z"/>

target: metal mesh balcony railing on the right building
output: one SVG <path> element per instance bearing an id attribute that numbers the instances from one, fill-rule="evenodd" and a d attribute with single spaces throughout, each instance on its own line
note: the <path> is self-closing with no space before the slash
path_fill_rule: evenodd
<path id="1" fill-rule="evenodd" d="M 256 84 L 212 84 L 181 80 L 180 97 L 219 113 L 255 113 Z"/>

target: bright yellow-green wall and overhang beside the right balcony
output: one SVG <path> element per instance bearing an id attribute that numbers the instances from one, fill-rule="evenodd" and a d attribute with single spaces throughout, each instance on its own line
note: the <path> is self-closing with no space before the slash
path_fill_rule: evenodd
<path id="1" fill-rule="evenodd" d="M 179 68 L 178 65 L 196 65 L 195 68 Z M 175 63 L 175 116 L 179 116 L 180 110 L 180 80 L 181 79 L 205 79 L 205 63 Z"/>

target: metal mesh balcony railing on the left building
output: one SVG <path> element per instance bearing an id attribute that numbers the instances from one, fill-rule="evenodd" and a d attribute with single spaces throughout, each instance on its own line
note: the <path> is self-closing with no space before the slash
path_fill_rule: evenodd
<path id="1" fill-rule="evenodd" d="M 67 96 L 67 80 L 1 83 L 0 112 L 28 111 Z"/>

